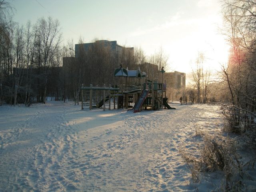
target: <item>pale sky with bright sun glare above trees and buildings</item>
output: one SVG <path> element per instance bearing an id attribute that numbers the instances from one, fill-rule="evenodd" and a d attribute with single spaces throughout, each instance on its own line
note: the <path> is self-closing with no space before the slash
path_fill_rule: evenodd
<path id="1" fill-rule="evenodd" d="M 190 73 L 198 52 L 212 72 L 228 59 L 221 34 L 218 0 L 13 0 L 14 20 L 26 24 L 51 16 L 60 21 L 63 43 L 94 38 L 141 47 L 146 55 L 160 48 L 168 56 L 167 71 Z"/>

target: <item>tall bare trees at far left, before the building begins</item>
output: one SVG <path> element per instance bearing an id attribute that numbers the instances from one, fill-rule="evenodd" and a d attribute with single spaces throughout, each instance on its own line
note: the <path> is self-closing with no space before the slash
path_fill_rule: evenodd
<path id="1" fill-rule="evenodd" d="M 45 102 L 52 68 L 61 66 L 60 22 L 51 17 L 20 26 L 13 8 L 0 2 L 0 104 Z"/>

